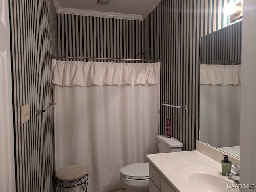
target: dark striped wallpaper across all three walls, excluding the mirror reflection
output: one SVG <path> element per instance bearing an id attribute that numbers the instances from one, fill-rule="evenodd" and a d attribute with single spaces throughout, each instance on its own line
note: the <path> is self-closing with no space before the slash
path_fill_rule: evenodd
<path id="1" fill-rule="evenodd" d="M 228 25 L 221 12 L 227 1 L 162 0 L 142 22 L 56 14 L 49 0 L 10 0 L 16 191 L 54 191 L 53 111 L 35 114 L 52 102 L 51 55 L 140 59 L 152 48 L 145 57 L 161 59 L 161 103 L 188 106 L 161 106 L 161 134 L 170 117 L 173 136 L 184 150 L 195 149 L 199 38 Z M 30 120 L 22 124 L 25 104 Z"/>

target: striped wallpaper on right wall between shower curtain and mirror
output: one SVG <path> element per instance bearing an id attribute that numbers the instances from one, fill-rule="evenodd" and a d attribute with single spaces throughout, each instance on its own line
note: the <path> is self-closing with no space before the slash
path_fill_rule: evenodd
<path id="1" fill-rule="evenodd" d="M 161 106 L 161 134 L 171 118 L 172 135 L 183 150 L 194 150 L 199 127 L 199 39 L 228 25 L 222 9 L 227 0 L 162 0 L 144 20 L 147 58 L 161 59 L 161 103 L 187 105 L 188 109 Z"/>

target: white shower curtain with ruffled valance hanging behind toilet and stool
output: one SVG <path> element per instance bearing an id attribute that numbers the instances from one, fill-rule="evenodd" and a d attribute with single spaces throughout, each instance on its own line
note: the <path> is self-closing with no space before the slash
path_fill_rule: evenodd
<path id="1" fill-rule="evenodd" d="M 114 70 L 118 82 L 138 82 L 136 84 L 144 85 L 82 87 L 82 84 L 77 86 L 79 78 L 74 78 L 81 73 L 72 73 L 70 69 L 65 72 L 64 68 L 68 68 L 70 62 L 63 62 L 57 61 L 58 67 L 55 66 L 52 82 L 70 84 L 76 79 L 76 84 L 55 85 L 54 88 L 56 170 L 70 164 L 86 166 L 89 175 L 88 192 L 107 192 L 120 188 L 120 168 L 131 163 L 145 162 L 146 154 L 158 152 L 155 140 L 158 135 L 159 92 L 156 85 L 158 82 L 152 79 L 159 80 L 160 63 L 78 62 L 75 65 L 80 68 L 80 72 L 95 66 L 100 68 L 94 72 L 87 71 L 86 79 L 90 79 L 90 82 L 98 76 L 95 75 L 97 72 L 103 70 L 97 81 L 104 84 L 102 82 L 107 79 L 104 76 Z M 119 75 L 115 67 L 122 71 Z M 127 68 L 128 71 L 120 68 Z M 61 72 L 62 69 L 64 71 Z M 69 81 L 63 80 L 65 74 L 69 76 Z M 134 75 L 127 80 L 129 74 Z M 122 77 L 126 77 L 126 80 Z M 86 85 L 84 79 L 80 78 L 83 85 Z M 153 81 L 155 85 L 151 84 Z M 110 82 L 116 83 L 113 79 Z M 65 191 L 81 189 L 77 187 Z"/>

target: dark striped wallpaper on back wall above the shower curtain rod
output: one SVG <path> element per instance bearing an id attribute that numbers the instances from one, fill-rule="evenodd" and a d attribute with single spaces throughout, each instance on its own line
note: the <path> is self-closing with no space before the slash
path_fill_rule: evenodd
<path id="1" fill-rule="evenodd" d="M 141 59 L 142 21 L 70 14 L 57 17 L 58 55 Z"/>

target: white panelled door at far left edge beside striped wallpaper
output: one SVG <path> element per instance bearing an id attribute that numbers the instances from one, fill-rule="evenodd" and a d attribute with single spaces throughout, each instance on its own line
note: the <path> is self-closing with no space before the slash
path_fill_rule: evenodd
<path id="1" fill-rule="evenodd" d="M 15 191 L 14 127 L 9 2 L 1 1 L 0 16 L 0 191 Z"/>

